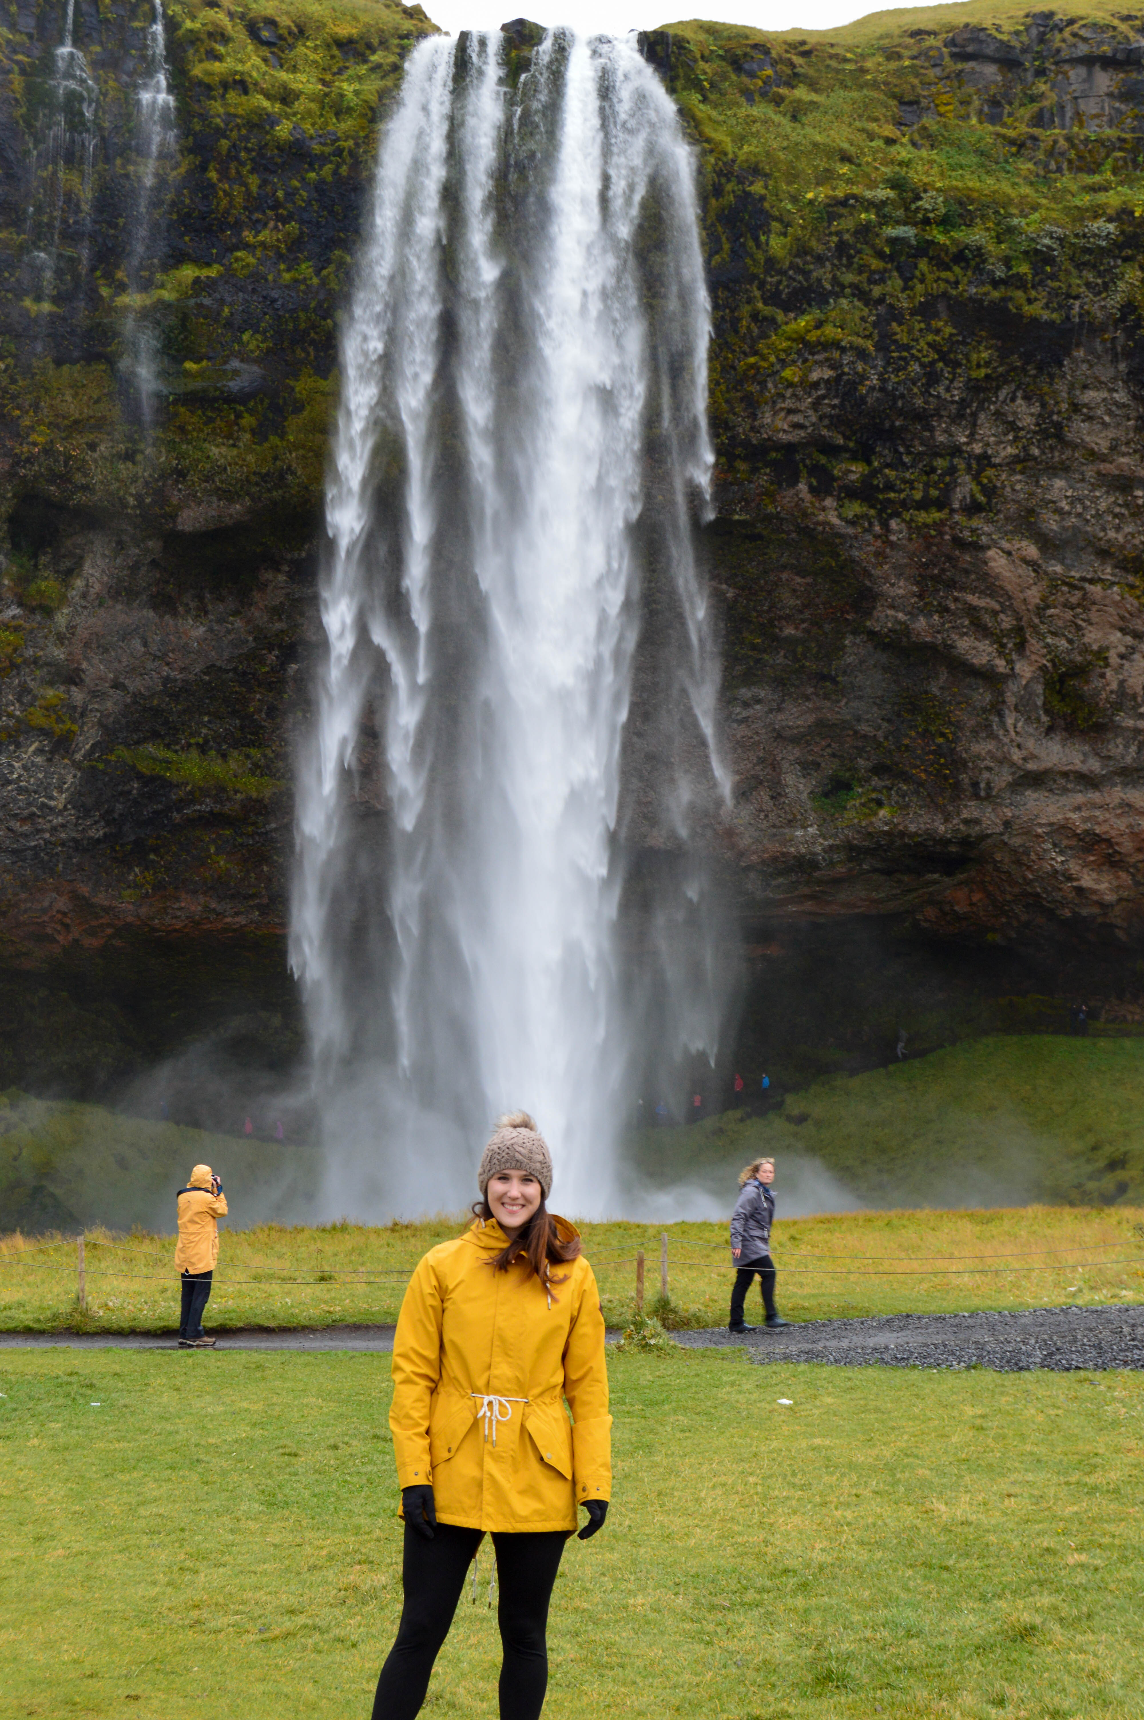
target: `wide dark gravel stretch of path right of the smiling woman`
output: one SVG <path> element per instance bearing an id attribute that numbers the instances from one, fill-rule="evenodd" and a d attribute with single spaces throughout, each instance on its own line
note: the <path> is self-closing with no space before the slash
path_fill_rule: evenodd
<path id="1" fill-rule="evenodd" d="M 1006 1314 L 881 1314 L 745 1333 L 676 1331 L 688 1348 L 741 1345 L 752 1362 L 843 1367 L 1144 1367 L 1144 1307 L 1039 1307 Z"/>

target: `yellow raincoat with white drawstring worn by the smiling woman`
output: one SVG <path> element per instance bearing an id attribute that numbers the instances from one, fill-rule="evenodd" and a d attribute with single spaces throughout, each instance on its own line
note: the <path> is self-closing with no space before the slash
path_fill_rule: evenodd
<path id="1" fill-rule="evenodd" d="M 439 1522 L 461 1529 L 575 1529 L 576 1505 L 612 1483 L 600 1293 L 580 1256 L 552 1264 L 564 1281 L 549 1302 L 526 1264 L 494 1271 L 504 1247 L 495 1219 L 477 1219 L 409 1280 L 389 1412 L 397 1481 L 432 1483 Z"/>

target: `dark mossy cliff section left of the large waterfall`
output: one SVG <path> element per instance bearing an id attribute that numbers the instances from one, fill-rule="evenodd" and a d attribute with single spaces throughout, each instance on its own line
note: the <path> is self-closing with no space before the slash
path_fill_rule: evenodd
<path id="1" fill-rule="evenodd" d="M 77 0 L 86 129 L 62 5 L 0 5 L 0 1065 L 77 1092 L 212 1032 L 298 1049 L 291 736 L 334 316 L 378 114 L 432 29 L 385 0 L 174 0 L 177 153 L 146 206 L 151 15 Z"/>

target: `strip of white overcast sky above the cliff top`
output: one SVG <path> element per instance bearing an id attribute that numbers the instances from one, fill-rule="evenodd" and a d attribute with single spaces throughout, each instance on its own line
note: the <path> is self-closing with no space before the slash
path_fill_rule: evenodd
<path id="1" fill-rule="evenodd" d="M 537 24 L 573 24 L 576 29 L 623 34 L 628 29 L 655 29 L 674 17 L 717 17 L 724 24 L 753 24 L 755 29 L 833 29 L 848 24 L 867 12 L 884 10 L 874 5 L 846 5 L 846 0 L 717 0 L 705 12 L 695 12 L 695 3 L 681 14 L 671 9 L 671 0 L 532 0 L 518 10 L 506 9 L 497 0 L 421 0 L 434 24 L 442 29 L 497 29 L 511 17 L 530 17 Z M 511 5 L 511 0 L 509 0 Z"/>

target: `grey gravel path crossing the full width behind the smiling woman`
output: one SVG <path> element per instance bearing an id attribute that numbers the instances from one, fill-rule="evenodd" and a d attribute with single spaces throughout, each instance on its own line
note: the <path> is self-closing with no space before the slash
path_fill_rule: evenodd
<path id="1" fill-rule="evenodd" d="M 220 1331 L 218 1350 L 366 1350 L 394 1347 L 392 1326 L 311 1331 Z M 618 1338 L 619 1333 L 609 1333 Z M 809 1319 L 735 1336 L 723 1326 L 678 1331 L 690 1350 L 735 1345 L 752 1362 L 836 1362 L 843 1367 L 1144 1367 L 1144 1307 L 1043 1307 L 1018 1314 L 881 1314 Z M 3 1331 L 0 1350 L 174 1350 L 151 1333 Z"/>

